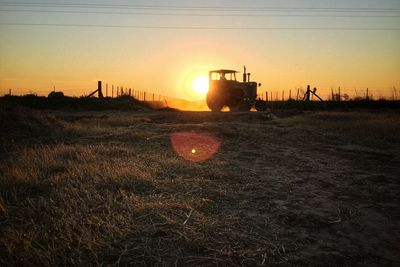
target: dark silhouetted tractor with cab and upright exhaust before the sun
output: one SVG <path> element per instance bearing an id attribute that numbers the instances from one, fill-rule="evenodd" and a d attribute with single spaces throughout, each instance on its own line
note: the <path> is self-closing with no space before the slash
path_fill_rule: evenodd
<path id="1" fill-rule="evenodd" d="M 250 82 L 250 73 L 243 72 L 243 82 L 236 80 L 236 70 L 212 70 L 209 72 L 209 88 L 207 106 L 212 111 L 221 111 L 228 107 L 230 111 L 250 111 L 255 107 L 257 111 L 267 108 L 266 102 L 257 99 L 256 82 Z"/>

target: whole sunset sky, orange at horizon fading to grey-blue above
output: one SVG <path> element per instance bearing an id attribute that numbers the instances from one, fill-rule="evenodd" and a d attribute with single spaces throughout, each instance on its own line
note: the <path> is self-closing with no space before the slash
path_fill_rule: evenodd
<path id="1" fill-rule="evenodd" d="M 196 77 L 243 65 L 260 91 L 400 88 L 400 0 L 0 0 L 0 39 L 0 95 L 102 80 L 198 100 Z"/>

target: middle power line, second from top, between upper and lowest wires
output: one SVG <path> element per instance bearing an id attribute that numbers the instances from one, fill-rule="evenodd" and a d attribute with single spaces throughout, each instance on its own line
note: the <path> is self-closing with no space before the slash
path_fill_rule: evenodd
<path id="1" fill-rule="evenodd" d="M 332 17 L 332 18 L 400 18 L 399 15 L 315 15 L 315 14 L 199 14 L 199 13 L 144 13 L 144 12 L 108 12 L 108 11 L 71 11 L 71 10 L 8 10 L 0 12 L 24 13 L 63 13 L 63 14 L 104 14 L 104 15 L 140 15 L 140 16 L 190 16 L 190 17 Z"/>

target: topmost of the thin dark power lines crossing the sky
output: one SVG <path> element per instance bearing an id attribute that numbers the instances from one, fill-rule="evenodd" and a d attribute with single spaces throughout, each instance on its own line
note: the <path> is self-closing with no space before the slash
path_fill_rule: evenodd
<path id="1" fill-rule="evenodd" d="M 27 3 L 0 2 L 0 5 L 15 7 L 67 7 L 67 8 L 110 8 L 110 9 L 157 9 L 157 10 L 212 10 L 212 11 L 291 11 L 291 12 L 400 12 L 398 8 L 351 8 L 351 7 L 263 7 L 263 6 L 178 6 L 178 5 L 122 5 L 122 4 L 90 4 L 90 3 Z"/>

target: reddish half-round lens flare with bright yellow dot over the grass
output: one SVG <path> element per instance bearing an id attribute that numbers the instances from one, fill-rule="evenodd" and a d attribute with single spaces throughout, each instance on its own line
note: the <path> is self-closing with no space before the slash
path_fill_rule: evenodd
<path id="1" fill-rule="evenodd" d="M 177 132 L 170 135 L 175 152 L 192 162 L 202 162 L 212 158 L 219 150 L 221 142 L 205 133 Z"/>

